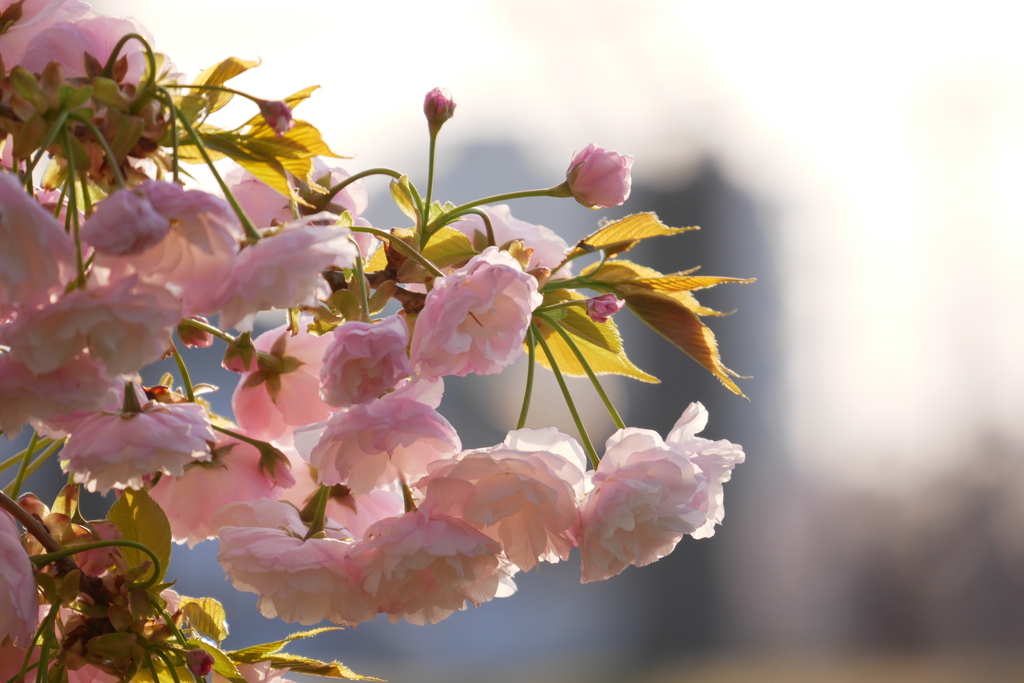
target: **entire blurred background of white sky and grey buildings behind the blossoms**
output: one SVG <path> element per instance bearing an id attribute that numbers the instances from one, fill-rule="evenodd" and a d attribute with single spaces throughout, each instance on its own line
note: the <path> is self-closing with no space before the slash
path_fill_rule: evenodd
<path id="1" fill-rule="evenodd" d="M 753 376 L 750 402 L 616 318 L 631 357 L 663 380 L 608 380 L 626 421 L 664 435 L 699 400 L 703 435 L 745 449 L 713 539 L 587 586 L 574 557 L 439 625 L 369 624 L 295 651 L 423 683 L 1024 679 L 1014 3 L 94 5 L 137 18 L 188 77 L 258 56 L 233 85 L 271 99 L 322 85 L 297 117 L 352 157 L 350 172 L 389 166 L 424 183 L 423 95 L 450 88 L 440 199 L 556 184 L 591 141 L 631 154 L 624 207 L 548 199 L 513 214 L 571 244 L 602 217 L 652 210 L 702 229 L 633 260 L 758 279 L 700 296 L 737 309 L 709 324 L 725 364 Z M 370 220 L 403 224 L 386 184 L 369 187 Z M 467 446 L 514 425 L 523 376 L 520 364 L 447 383 L 442 411 Z M 223 409 L 233 381 L 210 381 Z M 572 388 L 603 439 L 599 402 L 585 381 Z M 571 431 L 553 382 L 539 391 L 534 419 Z M 234 615 L 229 647 L 292 631 L 256 616 L 215 556 L 211 543 L 178 552 L 170 575 L 182 593 L 217 592 Z"/>

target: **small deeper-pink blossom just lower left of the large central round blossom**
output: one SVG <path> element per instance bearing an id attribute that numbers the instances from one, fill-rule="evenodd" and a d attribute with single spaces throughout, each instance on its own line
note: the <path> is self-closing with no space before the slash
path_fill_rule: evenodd
<path id="1" fill-rule="evenodd" d="M 409 377 L 409 329 L 391 315 L 377 324 L 350 321 L 327 335 L 321 395 L 331 405 L 365 403 Z"/>

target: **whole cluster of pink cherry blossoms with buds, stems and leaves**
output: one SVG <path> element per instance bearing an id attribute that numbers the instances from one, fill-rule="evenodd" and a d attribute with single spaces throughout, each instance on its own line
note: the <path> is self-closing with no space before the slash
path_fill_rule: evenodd
<path id="1" fill-rule="evenodd" d="M 72 0 L 0 7 L 0 429 L 29 438 L 0 494 L 0 681 L 47 668 L 285 680 L 311 661 L 220 650 L 216 601 L 164 590 L 172 543 L 216 541 L 268 617 L 422 625 L 511 595 L 518 571 L 573 549 L 586 583 L 714 533 L 742 450 L 696 435 L 700 403 L 666 438 L 627 427 L 598 375 L 651 379 L 613 321 L 629 306 L 740 393 L 699 319 L 714 311 L 691 292 L 748 281 L 618 258 L 685 229 L 650 213 L 569 246 L 504 203 L 618 206 L 632 157 L 590 144 L 547 189 L 432 202 L 434 145 L 456 109 L 445 90 L 424 101 L 421 195 L 397 171 L 331 161 L 293 116 L 310 89 L 266 100 L 226 85 L 254 63 L 186 82 L 128 19 Z M 225 132 L 208 118 L 232 97 L 255 112 Z M 221 176 L 208 148 L 239 166 Z M 219 193 L 185 186 L 184 163 L 207 163 Z M 372 176 L 390 179 L 409 227 L 366 218 Z M 257 327 L 270 311 L 281 324 Z M 213 387 L 182 345 L 237 373 L 231 419 L 204 402 Z M 169 356 L 178 377 L 142 386 L 138 373 Z M 441 413 L 444 378 L 523 356 L 530 378 L 536 365 L 557 375 L 570 408 L 562 375 L 591 379 L 618 428 L 603 456 L 579 418 L 579 439 L 525 427 L 531 379 L 505 439 L 464 447 Z M 51 458 L 72 483 L 49 507 L 18 497 Z M 81 486 L 117 493 L 106 519 L 82 517 Z"/>

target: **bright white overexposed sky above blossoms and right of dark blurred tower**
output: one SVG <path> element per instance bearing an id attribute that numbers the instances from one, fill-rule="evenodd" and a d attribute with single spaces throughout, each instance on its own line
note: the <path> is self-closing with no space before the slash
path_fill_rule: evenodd
<path id="1" fill-rule="evenodd" d="M 699 154 L 776 210 L 794 457 L 870 482 L 1024 438 L 1024 41 L 1009 2 L 176 0 L 131 14 L 189 76 L 323 89 L 299 112 L 350 170 L 526 144 L 557 182 L 594 140 L 656 180 Z M 884 484 L 884 482 L 883 482 Z"/>

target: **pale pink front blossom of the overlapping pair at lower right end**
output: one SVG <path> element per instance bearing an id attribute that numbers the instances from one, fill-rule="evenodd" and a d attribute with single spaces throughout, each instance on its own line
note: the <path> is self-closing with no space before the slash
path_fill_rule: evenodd
<path id="1" fill-rule="evenodd" d="M 707 482 L 649 429 L 612 434 L 593 484 L 581 509 L 583 583 L 650 564 L 705 523 L 694 498 Z"/>

